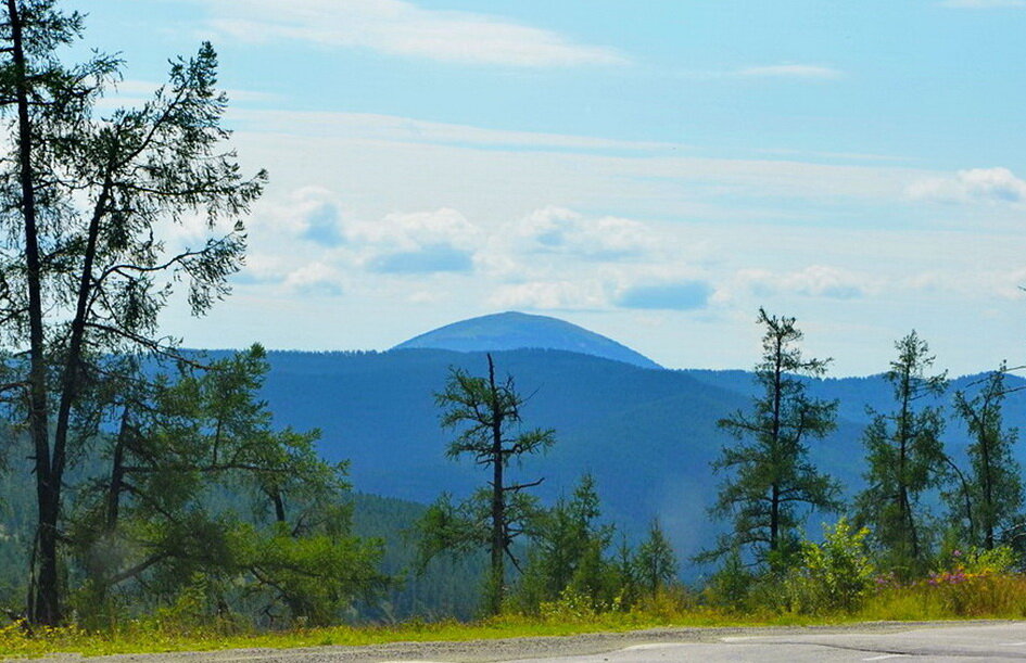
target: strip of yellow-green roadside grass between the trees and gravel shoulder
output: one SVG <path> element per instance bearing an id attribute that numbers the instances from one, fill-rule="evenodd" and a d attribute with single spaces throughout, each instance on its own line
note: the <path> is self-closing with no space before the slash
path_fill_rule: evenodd
<path id="1" fill-rule="evenodd" d="M 948 576 L 946 576 L 948 577 Z M 472 623 L 409 622 L 395 626 L 335 626 L 284 632 L 240 632 L 238 628 L 182 628 L 172 620 L 128 622 L 114 629 L 87 632 L 74 626 L 45 629 L 34 636 L 20 624 L 0 628 L 0 656 L 39 656 L 56 652 L 84 655 L 202 651 L 241 648 L 297 648 L 329 645 L 380 645 L 397 641 L 478 640 L 570 636 L 654 627 L 795 626 L 878 621 L 1023 619 L 1026 577 L 978 574 L 958 582 L 920 582 L 883 587 L 853 613 L 796 614 L 758 610 L 738 614 L 683 600 L 683 595 L 649 602 L 632 612 L 595 613 L 573 604 L 556 604 L 542 617 L 505 615 Z"/>

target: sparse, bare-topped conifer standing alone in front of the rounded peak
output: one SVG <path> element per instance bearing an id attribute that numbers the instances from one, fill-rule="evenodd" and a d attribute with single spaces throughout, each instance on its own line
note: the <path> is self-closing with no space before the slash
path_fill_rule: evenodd
<path id="1" fill-rule="evenodd" d="M 442 428 L 457 433 L 446 455 L 454 459 L 470 456 L 490 472 L 489 485 L 461 503 L 443 495 L 431 506 L 419 524 L 419 558 L 422 566 L 444 550 L 486 548 L 486 610 L 498 614 L 505 596 L 505 560 L 518 564 L 510 544 L 524 533 L 528 520 L 536 512 L 534 499 L 524 490 L 543 481 L 510 483 L 506 472 L 511 461 L 552 446 L 555 432 L 522 429 L 520 410 L 525 398 L 517 392 L 511 375 L 504 381 L 496 379 L 491 354 L 487 362 L 484 378 L 451 368 L 448 382 L 435 394 L 435 403 L 442 408 Z"/>

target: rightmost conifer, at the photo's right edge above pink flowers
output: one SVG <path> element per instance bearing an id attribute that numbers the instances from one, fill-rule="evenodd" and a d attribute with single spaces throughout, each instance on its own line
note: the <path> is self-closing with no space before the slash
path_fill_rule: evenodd
<path id="1" fill-rule="evenodd" d="M 966 477 L 968 512 L 964 518 L 966 538 L 987 550 L 997 545 L 1023 507 L 1022 468 L 1012 455 L 1018 437 L 1016 429 L 1006 429 L 1002 413 L 1005 365 L 984 380 L 979 392 L 970 397 L 965 392 L 954 395 L 954 407 L 968 429 L 973 442 L 966 449 L 970 472 Z M 952 496 L 955 501 L 961 496 Z M 952 512 L 962 514 L 962 505 Z"/>

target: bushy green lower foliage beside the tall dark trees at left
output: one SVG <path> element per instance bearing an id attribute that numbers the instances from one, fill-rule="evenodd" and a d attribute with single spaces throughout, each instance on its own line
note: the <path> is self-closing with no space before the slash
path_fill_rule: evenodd
<path id="1" fill-rule="evenodd" d="M 68 537 L 97 605 L 174 597 L 202 575 L 232 587 L 215 597 L 225 609 L 330 623 L 382 588 L 379 544 L 350 535 L 344 466 L 319 459 L 317 432 L 273 430 L 255 398 L 266 370 L 259 346 L 180 365 L 123 406 Z M 218 508 L 232 494 L 250 514 Z"/>

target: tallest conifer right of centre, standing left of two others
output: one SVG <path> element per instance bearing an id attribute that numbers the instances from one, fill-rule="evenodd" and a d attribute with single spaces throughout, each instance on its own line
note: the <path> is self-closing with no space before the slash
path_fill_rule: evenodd
<path id="1" fill-rule="evenodd" d="M 698 556 L 710 560 L 747 547 L 758 562 L 783 563 L 797 551 L 800 508 L 838 507 L 837 484 L 809 460 L 809 441 L 836 426 L 836 401 L 811 398 L 806 378 L 826 372 L 827 360 L 806 359 L 798 347 L 802 333 L 794 318 L 759 309 L 762 360 L 756 366 L 761 393 L 750 412 L 738 411 L 718 423 L 738 444 L 725 446 L 713 463 L 730 472 L 712 513 L 731 518 L 732 532 L 715 549 Z"/>

